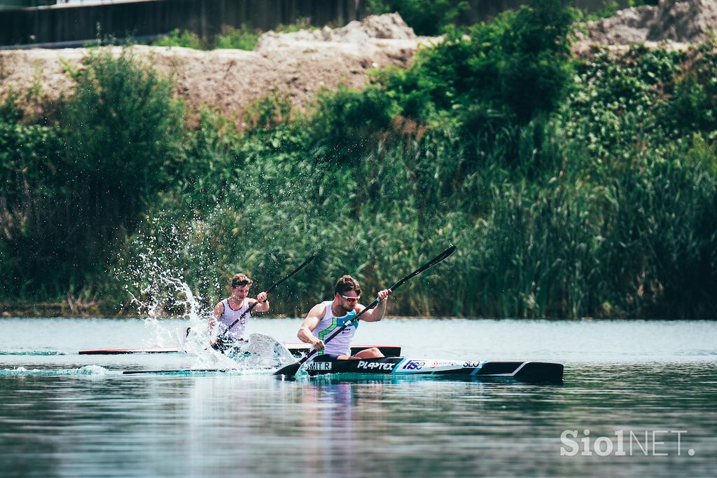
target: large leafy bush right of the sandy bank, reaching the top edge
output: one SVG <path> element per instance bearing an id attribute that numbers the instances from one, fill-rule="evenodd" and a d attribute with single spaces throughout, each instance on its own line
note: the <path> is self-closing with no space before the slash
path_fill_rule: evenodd
<path id="1" fill-rule="evenodd" d="M 506 11 L 467 37 L 450 31 L 419 54 L 411 71 L 378 80 L 410 117 L 425 119 L 433 111 L 475 116 L 469 111 L 478 108 L 525 124 L 565 98 L 571 21 L 557 0 Z"/>

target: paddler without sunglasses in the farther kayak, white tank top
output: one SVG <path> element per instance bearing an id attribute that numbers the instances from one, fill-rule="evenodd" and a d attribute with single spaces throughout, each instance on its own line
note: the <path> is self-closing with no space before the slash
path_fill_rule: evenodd
<path id="1" fill-rule="evenodd" d="M 234 324 L 234 321 L 241 317 L 241 320 L 234 324 L 234 327 L 229 329 L 226 337 L 227 342 L 242 342 L 245 341 L 247 321 L 252 317 L 250 312 L 247 312 L 253 304 L 258 302 L 254 307 L 254 311 L 265 312 L 269 310 L 269 301 L 267 301 L 267 293 L 260 292 L 256 299 L 250 299 L 249 288 L 252 286 L 252 279 L 248 278 L 242 273 L 235 274 L 232 277 L 232 282 L 229 286 L 231 295 L 227 299 L 219 301 L 214 306 L 214 313 L 209 319 L 209 327 L 214 330 L 217 322 L 221 324 L 219 326 L 219 334 L 222 334 L 228 327 Z M 244 314 L 247 312 L 247 314 Z M 244 317 L 242 317 L 244 314 Z M 212 339 L 211 345 L 214 346 L 216 339 Z"/>

